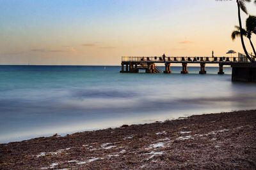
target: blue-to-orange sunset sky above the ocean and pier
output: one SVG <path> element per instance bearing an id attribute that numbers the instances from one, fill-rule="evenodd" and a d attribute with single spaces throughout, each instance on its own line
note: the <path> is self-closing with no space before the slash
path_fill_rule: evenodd
<path id="1" fill-rule="evenodd" d="M 255 4 L 246 6 L 256 15 Z M 212 50 L 227 56 L 243 52 L 239 38 L 231 39 L 234 25 L 235 0 L 0 0 L 0 64 L 118 66 L 122 56 Z"/>

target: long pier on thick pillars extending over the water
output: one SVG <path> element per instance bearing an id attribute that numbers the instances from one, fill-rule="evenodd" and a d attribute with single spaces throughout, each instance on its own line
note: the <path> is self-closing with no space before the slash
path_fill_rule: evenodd
<path id="1" fill-rule="evenodd" d="M 246 56 L 239 53 L 239 57 L 122 57 L 120 73 L 139 73 L 140 69 L 144 69 L 146 73 L 172 73 L 171 64 L 182 64 L 181 74 L 188 73 L 188 64 L 200 64 L 199 74 L 206 74 L 206 64 L 218 64 L 218 74 L 224 74 L 223 66 L 234 63 L 245 64 L 249 61 Z M 161 70 L 156 63 L 162 63 L 165 66 L 164 71 Z"/>

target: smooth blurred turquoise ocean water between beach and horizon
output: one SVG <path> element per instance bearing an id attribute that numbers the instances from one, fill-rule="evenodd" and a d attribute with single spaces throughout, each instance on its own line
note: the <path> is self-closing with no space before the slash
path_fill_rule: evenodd
<path id="1" fill-rule="evenodd" d="M 164 68 L 162 68 L 164 69 Z M 255 109 L 255 83 L 231 69 L 172 67 L 172 74 L 119 73 L 119 66 L 0 66 L 0 143 Z"/>

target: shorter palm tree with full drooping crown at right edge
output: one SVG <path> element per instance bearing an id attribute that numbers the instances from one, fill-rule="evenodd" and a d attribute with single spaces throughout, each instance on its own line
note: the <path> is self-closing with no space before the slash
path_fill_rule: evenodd
<path id="1" fill-rule="evenodd" d="M 239 31 L 240 28 L 238 26 L 235 26 L 236 27 L 236 31 L 233 31 L 232 34 L 231 34 L 231 38 L 234 40 L 236 39 L 237 36 L 246 36 L 249 41 L 250 41 L 250 44 L 252 46 L 252 49 L 253 49 L 253 53 L 254 55 L 256 56 L 256 51 L 255 51 L 255 48 L 253 46 L 253 43 L 252 43 L 252 34 L 256 34 L 256 17 L 255 16 L 252 16 L 250 15 L 247 19 L 246 19 L 246 29 L 241 29 L 242 31 Z"/>

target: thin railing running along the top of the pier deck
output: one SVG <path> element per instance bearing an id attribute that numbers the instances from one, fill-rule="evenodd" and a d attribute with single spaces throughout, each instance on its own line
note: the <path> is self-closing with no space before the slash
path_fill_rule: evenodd
<path id="1" fill-rule="evenodd" d="M 122 57 L 122 62 L 250 62 L 246 57 Z"/>

